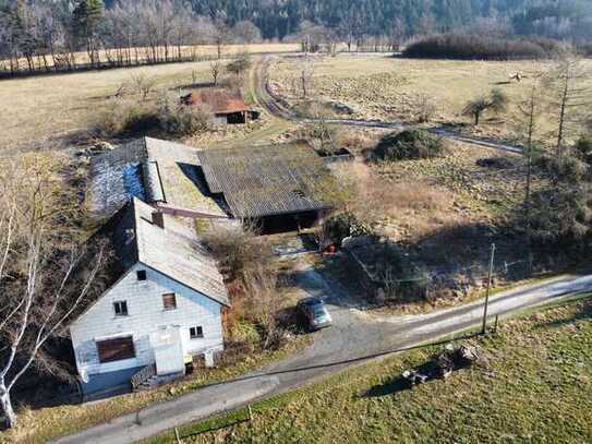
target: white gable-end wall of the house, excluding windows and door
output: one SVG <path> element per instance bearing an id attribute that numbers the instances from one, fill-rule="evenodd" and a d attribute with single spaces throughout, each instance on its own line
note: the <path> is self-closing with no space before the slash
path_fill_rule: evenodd
<path id="1" fill-rule="evenodd" d="M 138 269 L 146 271 L 146 280 L 137 280 Z M 162 295 L 167 292 L 176 293 L 176 310 L 164 309 Z M 116 316 L 116 301 L 128 302 L 128 316 Z M 89 375 L 108 373 L 154 362 L 149 335 L 166 326 L 180 327 L 185 355 L 222 349 L 221 305 L 218 302 L 143 264 L 136 264 L 70 326 L 78 372 L 86 371 Z M 203 327 L 203 339 L 190 339 L 189 328 L 192 326 Z M 101 364 L 96 340 L 129 335 L 133 336 L 136 357 Z"/>

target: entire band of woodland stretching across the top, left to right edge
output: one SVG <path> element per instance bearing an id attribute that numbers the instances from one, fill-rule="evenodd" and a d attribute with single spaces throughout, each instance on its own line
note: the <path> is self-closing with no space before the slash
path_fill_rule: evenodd
<path id="1" fill-rule="evenodd" d="M 592 41 L 584 0 L 0 0 L 0 73 L 195 60 L 263 39 L 396 49 L 433 33 Z M 306 37 L 306 38 L 303 38 Z M 81 55 L 82 52 L 82 55 Z"/>

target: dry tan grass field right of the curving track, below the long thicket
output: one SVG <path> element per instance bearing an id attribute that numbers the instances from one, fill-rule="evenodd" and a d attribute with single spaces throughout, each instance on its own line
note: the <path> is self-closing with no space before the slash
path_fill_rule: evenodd
<path id="1" fill-rule="evenodd" d="M 592 61 L 587 61 L 592 69 Z M 276 62 L 270 86 L 280 96 L 294 104 L 300 100 L 298 87 L 301 62 L 283 58 Z M 479 128 L 469 128 L 476 135 L 514 139 L 517 132 L 517 104 L 529 92 L 532 77 L 549 63 L 533 61 L 452 61 L 412 60 L 369 56 L 317 58 L 313 63 L 312 96 L 349 105 L 353 118 L 401 120 L 414 123 L 422 96 L 433 99 L 437 107 L 434 123 L 471 123 L 461 116 L 469 99 L 502 88 L 510 98 L 507 113 L 499 118 L 487 113 Z M 510 75 L 520 72 L 522 82 L 510 82 Z M 592 86 L 592 81 L 591 85 Z M 548 92 L 545 92 L 548 97 Z M 545 116 L 537 137 L 548 140 L 554 130 L 554 118 Z"/>

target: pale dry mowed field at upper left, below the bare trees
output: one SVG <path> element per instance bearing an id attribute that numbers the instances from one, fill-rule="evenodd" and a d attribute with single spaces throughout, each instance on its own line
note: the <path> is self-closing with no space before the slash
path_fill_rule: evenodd
<path id="1" fill-rule="evenodd" d="M 208 48 L 214 53 L 215 48 Z M 293 45 L 247 47 L 250 52 L 277 52 L 281 48 L 291 50 Z M 210 62 L 188 62 L 0 81 L 0 149 L 47 145 L 69 133 L 88 130 L 132 75 L 145 74 L 157 80 L 157 87 L 177 89 L 192 82 L 193 72 L 197 82 L 210 82 L 209 71 Z"/>

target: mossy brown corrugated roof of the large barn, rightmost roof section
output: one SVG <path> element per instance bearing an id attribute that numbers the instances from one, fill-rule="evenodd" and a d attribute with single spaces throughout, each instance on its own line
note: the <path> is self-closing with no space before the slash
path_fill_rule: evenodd
<path id="1" fill-rule="evenodd" d="M 306 143 L 197 153 L 209 190 L 234 217 L 265 217 L 330 207 L 334 180 Z"/>

